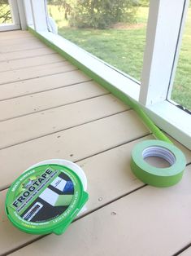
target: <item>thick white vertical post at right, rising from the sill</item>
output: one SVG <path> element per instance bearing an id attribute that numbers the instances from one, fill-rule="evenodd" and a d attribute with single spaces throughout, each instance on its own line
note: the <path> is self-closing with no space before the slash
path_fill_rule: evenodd
<path id="1" fill-rule="evenodd" d="M 185 1 L 150 1 L 139 97 L 145 106 L 167 99 Z"/>

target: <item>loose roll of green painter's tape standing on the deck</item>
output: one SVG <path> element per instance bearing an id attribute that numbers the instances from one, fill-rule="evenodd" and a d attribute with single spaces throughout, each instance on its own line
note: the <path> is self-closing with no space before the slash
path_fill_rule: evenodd
<path id="1" fill-rule="evenodd" d="M 170 167 L 150 166 L 146 157 L 160 157 Z M 145 140 L 132 149 L 131 169 L 142 182 L 154 187 L 170 187 L 182 178 L 186 160 L 183 152 L 175 145 L 158 139 Z"/>

